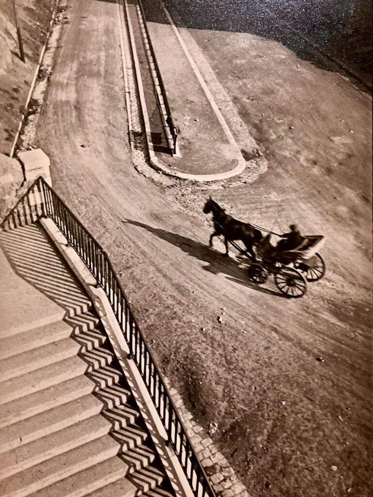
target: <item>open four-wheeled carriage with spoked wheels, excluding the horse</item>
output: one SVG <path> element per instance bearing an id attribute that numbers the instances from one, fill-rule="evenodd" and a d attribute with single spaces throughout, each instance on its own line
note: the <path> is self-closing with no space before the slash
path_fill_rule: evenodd
<path id="1" fill-rule="evenodd" d="M 262 284 L 272 273 L 275 284 L 283 295 L 302 297 L 307 291 L 307 282 L 317 281 L 325 274 L 325 262 L 318 253 L 325 243 L 325 237 L 306 236 L 297 247 L 282 251 L 277 251 L 271 245 L 270 237 L 271 234 L 268 234 L 258 246 L 259 259 L 249 266 L 249 278 Z"/>

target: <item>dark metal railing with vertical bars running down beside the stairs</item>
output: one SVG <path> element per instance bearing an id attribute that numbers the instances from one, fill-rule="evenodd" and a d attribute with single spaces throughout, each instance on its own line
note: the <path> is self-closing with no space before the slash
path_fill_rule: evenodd
<path id="1" fill-rule="evenodd" d="M 121 327 L 130 354 L 139 369 L 171 445 L 196 497 L 215 497 L 152 353 L 132 314 L 110 259 L 57 193 L 40 176 L 5 217 L 0 227 L 9 230 L 50 217 L 74 247 L 105 292 Z"/>

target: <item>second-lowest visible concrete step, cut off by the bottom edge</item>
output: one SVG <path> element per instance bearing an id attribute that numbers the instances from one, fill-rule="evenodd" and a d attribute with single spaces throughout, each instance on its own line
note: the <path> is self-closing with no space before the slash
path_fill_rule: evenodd
<path id="1" fill-rule="evenodd" d="M 117 481 L 101 487 L 96 491 L 89 494 L 89 497 L 135 497 L 149 492 L 151 489 L 156 489 L 161 485 L 165 479 L 165 475 L 160 469 L 154 465 L 142 468 L 131 475 L 122 477 Z M 66 497 L 80 497 L 79 496 L 66 496 Z M 33 497 L 36 497 L 33 496 Z M 37 496 L 39 497 L 39 495 Z M 43 495 L 40 497 L 49 497 Z M 62 497 L 62 496 L 61 496 Z M 156 496 L 157 497 L 157 496 Z M 158 496 L 158 497 L 174 497 L 174 496 Z"/>

